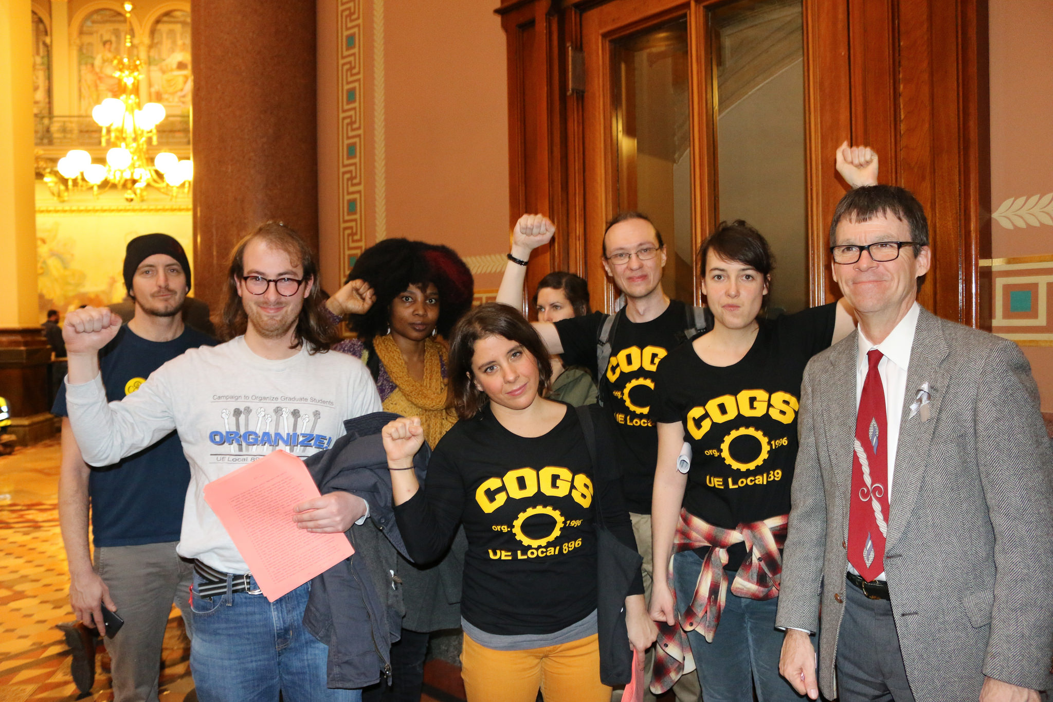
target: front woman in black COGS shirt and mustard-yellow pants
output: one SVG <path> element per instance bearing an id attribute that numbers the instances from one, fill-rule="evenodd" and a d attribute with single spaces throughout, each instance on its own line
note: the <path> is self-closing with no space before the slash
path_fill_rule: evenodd
<path id="1" fill-rule="evenodd" d="M 635 549 L 610 466 L 592 464 L 568 404 L 542 397 L 551 368 L 523 317 L 491 303 L 454 327 L 450 386 L 460 421 L 439 441 L 423 489 L 412 467 L 417 418 L 383 429 L 395 512 L 410 555 L 441 554 L 463 523 L 462 677 L 469 702 L 607 702 L 597 637 L 596 505 L 608 529 Z M 592 410 L 590 407 L 589 412 Z M 597 446 L 610 444 L 592 412 Z M 629 641 L 655 639 L 637 577 L 623 598 Z M 616 603 L 620 608 L 621 602 Z"/>

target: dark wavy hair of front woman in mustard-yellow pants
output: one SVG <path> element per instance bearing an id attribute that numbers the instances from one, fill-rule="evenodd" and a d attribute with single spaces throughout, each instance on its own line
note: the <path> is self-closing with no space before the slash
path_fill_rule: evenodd
<path id="1" fill-rule="evenodd" d="M 504 337 L 522 344 L 537 361 L 538 395 L 549 388 L 552 363 L 533 325 L 514 307 L 499 302 L 483 303 L 461 317 L 450 339 L 450 401 L 460 419 L 475 417 L 490 401 L 485 393 L 476 388 L 472 368 L 475 343 L 490 337 Z"/>

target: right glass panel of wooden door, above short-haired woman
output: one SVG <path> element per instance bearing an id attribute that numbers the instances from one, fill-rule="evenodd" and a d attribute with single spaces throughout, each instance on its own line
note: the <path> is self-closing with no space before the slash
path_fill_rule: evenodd
<path id="1" fill-rule="evenodd" d="M 777 265 L 769 315 L 797 312 L 809 304 L 801 2 L 736 0 L 708 14 L 717 218 L 764 235 Z"/>

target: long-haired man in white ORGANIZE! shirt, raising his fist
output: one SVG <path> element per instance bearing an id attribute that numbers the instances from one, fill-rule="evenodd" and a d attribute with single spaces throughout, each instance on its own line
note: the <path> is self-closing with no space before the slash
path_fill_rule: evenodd
<path id="1" fill-rule="evenodd" d="M 302 624 L 309 585 L 267 602 L 203 488 L 275 448 L 305 457 L 329 447 L 344 420 L 380 410 L 376 385 L 358 359 L 326 353 L 335 339 L 317 264 L 281 224 L 262 225 L 235 249 L 223 322 L 230 341 L 168 361 L 106 404 L 98 350 L 120 318 L 107 308 L 71 313 L 63 336 L 74 435 L 85 462 L 107 465 L 179 434 L 191 483 L 177 550 L 195 561 L 191 669 L 202 702 L 277 699 L 279 691 L 357 702 L 359 690 L 326 687 L 327 646 Z M 336 533 L 360 523 L 369 506 L 335 492 L 295 510 L 300 528 Z"/>

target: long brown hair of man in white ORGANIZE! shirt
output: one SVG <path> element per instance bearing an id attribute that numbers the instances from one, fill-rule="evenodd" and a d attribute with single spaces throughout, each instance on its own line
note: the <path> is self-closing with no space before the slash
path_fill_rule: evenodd
<path id="1" fill-rule="evenodd" d="M 303 301 L 300 317 L 296 320 L 296 330 L 293 334 L 293 345 L 307 343 L 307 353 L 325 353 L 337 341 L 336 329 L 330 323 L 322 307 L 323 296 L 321 282 L 318 280 L 318 263 L 311 247 L 296 232 L 281 222 L 266 222 L 238 242 L 231 254 L 231 267 L 226 276 L 226 302 L 223 304 L 224 341 L 245 333 L 249 326 L 249 316 L 245 314 L 241 296 L 238 295 L 238 281 L 245 274 L 245 246 L 250 241 L 260 239 L 271 248 L 277 248 L 289 255 L 293 265 L 303 267 L 303 279 L 311 279 L 311 293 Z"/>

